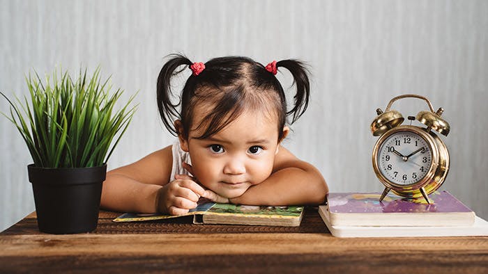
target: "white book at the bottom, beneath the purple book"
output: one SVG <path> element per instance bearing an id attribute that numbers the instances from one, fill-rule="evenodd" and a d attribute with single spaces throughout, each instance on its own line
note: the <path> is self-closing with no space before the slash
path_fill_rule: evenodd
<path id="1" fill-rule="evenodd" d="M 341 238 L 366 237 L 440 237 L 440 236 L 488 236 L 488 222 L 475 216 L 473 225 L 459 226 L 344 226 L 331 225 L 325 206 L 319 214 L 330 234 Z"/>

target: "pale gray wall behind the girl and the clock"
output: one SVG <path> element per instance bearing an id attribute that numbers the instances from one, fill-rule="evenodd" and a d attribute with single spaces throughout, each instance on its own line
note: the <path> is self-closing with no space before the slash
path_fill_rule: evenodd
<path id="1" fill-rule="evenodd" d="M 97 65 L 114 88 L 137 96 L 109 168 L 169 145 L 155 83 L 174 52 L 206 62 L 226 55 L 312 67 L 312 100 L 284 145 L 313 163 L 330 191 L 381 191 L 372 170 L 375 109 L 417 93 L 445 108 L 452 166 L 443 189 L 488 218 L 488 1 L 0 1 L 0 90 L 26 94 L 24 74 L 73 74 Z M 188 70 L 188 75 L 190 70 Z M 278 74 L 290 86 L 287 71 Z M 293 90 L 289 92 L 290 98 Z M 427 105 L 393 105 L 415 115 Z M 8 105 L 0 100 L 0 111 Z M 34 210 L 31 157 L 0 118 L 0 231 Z"/>

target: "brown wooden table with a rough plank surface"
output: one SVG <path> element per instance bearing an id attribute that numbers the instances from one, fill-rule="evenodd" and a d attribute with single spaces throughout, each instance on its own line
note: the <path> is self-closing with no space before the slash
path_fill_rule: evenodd
<path id="1" fill-rule="evenodd" d="M 38 231 L 32 213 L 0 234 L 0 273 L 488 273 L 488 237 L 340 239 L 317 208 L 300 227 L 113 223 L 89 234 Z"/>

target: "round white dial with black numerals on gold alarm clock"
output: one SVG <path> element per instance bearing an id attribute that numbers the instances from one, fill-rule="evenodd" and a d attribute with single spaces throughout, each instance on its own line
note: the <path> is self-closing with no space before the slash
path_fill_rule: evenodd
<path id="1" fill-rule="evenodd" d="M 432 152 L 424 138 L 411 131 L 398 131 L 386 138 L 376 160 L 379 170 L 388 181 L 410 185 L 427 175 Z"/>

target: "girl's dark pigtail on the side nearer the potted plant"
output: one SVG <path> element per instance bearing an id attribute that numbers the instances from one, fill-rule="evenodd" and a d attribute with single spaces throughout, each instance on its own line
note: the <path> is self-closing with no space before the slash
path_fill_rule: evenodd
<path id="1" fill-rule="evenodd" d="M 178 135 L 178 131 L 174 127 L 173 121 L 176 119 L 181 119 L 181 113 L 178 112 L 177 107 L 181 104 L 181 99 L 175 104 L 171 102 L 171 95 L 173 94 L 171 90 L 171 77 L 182 72 L 185 67 L 181 70 L 177 70 L 181 65 L 192 65 L 192 62 L 181 54 L 171 54 L 172 58 L 165 63 L 162 67 L 158 76 L 158 88 L 157 88 L 157 100 L 158 100 L 158 110 L 162 122 L 165 127 L 174 136 Z"/>

